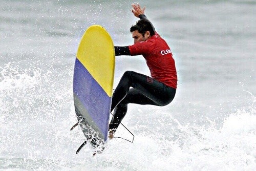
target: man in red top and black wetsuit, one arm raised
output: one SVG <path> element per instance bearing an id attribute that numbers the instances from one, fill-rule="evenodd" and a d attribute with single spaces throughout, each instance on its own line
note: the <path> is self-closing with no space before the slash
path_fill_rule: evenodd
<path id="1" fill-rule="evenodd" d="M 115 46 L 115 55 L 142 55 L 151 72 L 151 77 L 126 71 L 112 97 L 113 118 L 109 125 L 109 138 L 114 137 L 117 127 L 127 112 L 127 104 L 152 104 L 164 106 L 172 102 L 177 88 L 177 73 L 172 51 L 156 32 L 144 14 L 145 7 L 132 4 L 133 14 L 140 18 L 130 31 L 134 45 Z"/>

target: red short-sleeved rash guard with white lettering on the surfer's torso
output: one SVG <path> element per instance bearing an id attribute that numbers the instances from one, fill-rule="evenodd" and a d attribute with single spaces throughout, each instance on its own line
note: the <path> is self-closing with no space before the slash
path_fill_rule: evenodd
<path id="1" fill-rule="evenodd" d="M 129 46 L 129 50 L 132 56 L 143 55 L 152 78 L 166 86 L 177 88 L 177 72 L 172 51 L 157 32 L 146 41 Z"/>

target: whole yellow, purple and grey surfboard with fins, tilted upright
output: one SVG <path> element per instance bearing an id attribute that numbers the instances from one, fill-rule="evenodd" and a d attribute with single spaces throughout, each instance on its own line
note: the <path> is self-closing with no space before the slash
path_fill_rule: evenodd
<path id="1" fill-rule="evenodd" d="M 73 96 L 78 123 L 86 141 L 100 153 L 108 139 L 115 70 L 115 50 L 109 33 L 99 25 L 83 34 L 76 53 Z M 71 129 L 71 130 L 72 130 Z M 101 148 L 101 149 L 99 149 Z"/>

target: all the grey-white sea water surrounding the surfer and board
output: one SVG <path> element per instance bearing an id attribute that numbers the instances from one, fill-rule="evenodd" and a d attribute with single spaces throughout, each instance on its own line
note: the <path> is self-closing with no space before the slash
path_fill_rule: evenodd
<path id="1" fill-rule="evenodd" d="M 115 138 L 92 157 L 77 127 L 77 46 L 93 24 L 133 44 L 132 1 L 1 1 L 0 170 L 255 170 L 256 3 L 139 1 L 176 60 L 178 89 L 164 107 L 129 104 Z M 142 56 L 116 57 L 149 75 Z M 116 133 L 129 140 L 120 126 Z"/>

